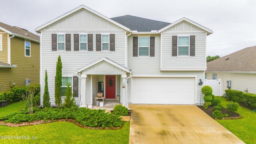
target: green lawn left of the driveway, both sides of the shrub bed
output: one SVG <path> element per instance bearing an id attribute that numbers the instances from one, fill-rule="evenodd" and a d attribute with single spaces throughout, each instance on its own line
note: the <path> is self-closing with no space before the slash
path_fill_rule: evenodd
<path id="1" fill-rule="evenodd" d="M 25 108 L 22 102 L 0 108 L 0 116 Z M 124 122 L 118 130 L 95 130 L 80 128 L 70 122 L 52 122 L 35 126 L 7 127 L 0 126 L 0 136 L 29 136 L 34 140 L 0 140 L 0 143 L 129 143 L 130 122 Z M 14 138 L 14 137 L 12 137 Z"/>

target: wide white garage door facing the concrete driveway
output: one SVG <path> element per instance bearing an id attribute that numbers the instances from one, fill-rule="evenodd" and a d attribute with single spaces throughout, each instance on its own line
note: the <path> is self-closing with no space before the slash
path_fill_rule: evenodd
<path id="1" fill-rule="evenodd" d="M 133 104 L 195 104 L 195 78 L 132 77 Z"/>

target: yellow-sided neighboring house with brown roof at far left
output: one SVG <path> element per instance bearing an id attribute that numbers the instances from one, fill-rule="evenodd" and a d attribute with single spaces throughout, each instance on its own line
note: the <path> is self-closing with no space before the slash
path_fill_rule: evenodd
<path id="1" fill-rule="evenodd" d="M 24 86 L 26 79 L 39 84 L 40 37 L 18 26 L 0 22 L 0 87 Z M 27 81 L 28 81 L 27 80 Z"/>

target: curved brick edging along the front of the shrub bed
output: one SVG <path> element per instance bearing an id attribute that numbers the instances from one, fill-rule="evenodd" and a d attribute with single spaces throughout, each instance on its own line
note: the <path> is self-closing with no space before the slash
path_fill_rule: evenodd
<path id="1" fill-rule="evenodd" d="M 102 127 L 84 126 L 82 124 L 79 124 L 78 122 L 76 122 L 73 119 L 60 119 L 60 120 L 53 120 L 53 121 L 51 121 L 51 120 L 47 120 L 47 121 L 35 120 L 35 121 L 32 121 L 32 122 L 19 122 L 19 123 L 14 123 L 14 122 L 4 123 L 4 121 L 0 121 L 0 125 L 10 126 L 10 127 L 20 127 L 20 126 L 33 126 L 33 125 L 37 125 L 37 124 L 47 124 L 47 123 L 50 123 L 50 122 L 71 122 L 73 124 L 76 124 L 80 128 L 88 128 L 88 129 L 111 129 L 111 130 L 116 130 L 116 129 L 122 128 L 122 126 L 114 127 L 114 128 L 110 128 L 110 127 L 102 128 Z M 124 122 L 123 122 L 123 124 L 124 124 Z"/>

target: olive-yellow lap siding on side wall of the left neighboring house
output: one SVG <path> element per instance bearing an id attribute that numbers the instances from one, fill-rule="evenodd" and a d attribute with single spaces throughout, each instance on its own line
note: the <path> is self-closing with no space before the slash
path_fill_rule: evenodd
<path id="1" fill-rule="evenodd" d="M 32 84 L 40 83 L 40 44 L 31 41 L 31 57 L 25 57 L 24 42 L 23 38 L 11 38 L 11 63 L 17 67 L 0 68 L 0 85 L 6 85 L 1 91 L 11 88 L 10 81 L 15 86 L 24 86 L 26 79 L 30 79 Z"/>

